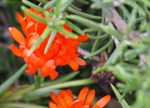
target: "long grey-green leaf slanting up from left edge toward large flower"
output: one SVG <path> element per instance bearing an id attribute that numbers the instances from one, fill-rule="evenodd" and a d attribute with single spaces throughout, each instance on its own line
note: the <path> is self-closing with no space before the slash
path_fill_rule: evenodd
<path id="1" fill-rule="evenodd" d="M 13 76 L 7 79 L 1 86 L 0 86 L 0 94 L 3 93 L 8 87 L 10 87 L 24 72 L 26 65 L 23 65 Z"/>

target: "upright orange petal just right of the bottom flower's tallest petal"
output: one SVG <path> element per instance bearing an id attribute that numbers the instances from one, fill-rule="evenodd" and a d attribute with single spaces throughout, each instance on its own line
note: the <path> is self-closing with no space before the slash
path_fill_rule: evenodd
<path id="1" fill-rule="evenodd" d="M 94 96 L 95 96 L 95 90 L 91 90 L 91 91 L 88 93 L 87 97 L 86 97 L 86 100 L 85 100 L 84 105 L 85 105 L 85 106 L 90 106 L 90 105 L 92 104 L 92 101 L 93 101 L 93 99 L 94 99 Z"/>

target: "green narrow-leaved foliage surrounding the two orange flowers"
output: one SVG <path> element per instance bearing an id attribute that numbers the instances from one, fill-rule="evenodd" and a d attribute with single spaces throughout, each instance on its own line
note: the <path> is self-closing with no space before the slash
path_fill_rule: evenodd
<path id="1" fill-rule="evenodd" d="M 21 9 L 25 13 L 48 25 L 40 36 L 40 39 L 30 49 L 31 53 L 50 33 L 51 36 L 44 53 L 50 48 L 56 32 L 60 32 L 70 38 L 77 38 L 76 34 L 88 33 L 90 41 L 85 44 L 87 46 L 91 45 L 90 47 L 85 47 L 85 50 L 91 52 L 88 55 L 84 55 L 84 58 L 90 58 L 90 60 L 94 59 L 94 57 L 99 58 L 100 53 L 103 51 L 106 51 L 106 56 L 108 56 L 108 59 L 102 65 L 97 66 L 92 73 L 99 74 L 100 72 L 107 71 L 116 77 L 118 81 L 116 84 L 111 84 L 111 87 L 123 108 L 128 108 L 129 106 L 131 108 L 149 107 L 150 3 L 148 0 L 124 0 L 121 2 L 116 0 L 37 1 L 39 1 L 38 5 L 29 0 L 22 0 L 25 5 L 42 12 L 45 18 L 34 14 L 27 7 L 21 6 Z M 14 2 L 3 1 L 2 3 L 12 4 L 11 8 L 14 8 Z M 86 9 L 84 9 L 85 7 Z M 52 8 L 52 10 L 47 11 L 49 8 Z M 14 14 L 14 11 L 12 13 Z M 10 14 L 7 21 L 9 24 L 12 24 L 9 16 Z M 73 29 L 73 33 L 66 31 L 63 28 L 63 24 L 69 25 Z M 5 33 L 0 35 L 10 40 Z M 1 48 L 6 47 L 1 45 Z M 3 54 L 2 50 L 0 54 Z M 6 59 L 0 58 L 0 60 L 5 61 Z M 91 61 L 90 64 L 92 64 Z M 7 62 L 7 66 L 1 62 L 0 64 L 4 65 L 5 68 L 9 67 L 9 70 L 3 67 L 0 67 L 0 70 L 10 71 L 11 66 L 8 65 L 9 61 L 5 62 Z M 0 101 L 0 104 L 3 102 L 3 107 L 24 108 L 31 105 L 32 108 L 44 108 L 43 106 L 20 102 L 16 102 L 19 106 L 15 106 L 12 101 L 23 100 L 27 102 L 37 100 L 42 96 L 48 97 L 50 91 L 57 92 L 57 90 L 66 87 L 94 83 L 89 78 L 79 79 L 77 77 L 78 73 L 69 74 L 58 80 L 44 83 L 42 83 L 43 79 L 36 75 L 35 85 L 37 88 L 34 85 L 30 85 L 27 88 L 17 89 L 15 92 L 6 91 L 22 75 L 24 69 L 25 66 L 1 84 L 0 96 L 2 101 Z M 76 80 L 70 81 L 74 77 Z M 126 99 L 126 96 L 133 92 L 135 93 L 135 99 Z M 7 101 L 10 102 L 9 105 Z M 130 103 L 129 105 L 128 102 Z"/>

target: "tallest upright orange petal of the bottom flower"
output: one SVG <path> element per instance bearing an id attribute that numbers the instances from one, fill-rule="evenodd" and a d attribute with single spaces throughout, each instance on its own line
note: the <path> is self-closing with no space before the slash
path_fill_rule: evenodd
<path id="1" fill-rule="evenodd" d="M 86 99 L 87 94 L 88 94 L 88 88 L 87 88 L 87 87 L 84 87 L 84 88 L 80 91 L 80 93 L 79 93 L 79 95 L 78 95 L 79 101 L 84 102 L 85 99 Z"/>

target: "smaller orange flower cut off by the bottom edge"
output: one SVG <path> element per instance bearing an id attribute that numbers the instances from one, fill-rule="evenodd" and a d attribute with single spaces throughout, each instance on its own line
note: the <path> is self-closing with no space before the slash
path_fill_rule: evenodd
<path id="1" fill-rule="evenodd" d="M 73 98 L 73 94 L 70 89 L 62 90 L 58 93 L 58 96 L 51 92 L 50 97 L 54 102 L 50 101 L 48 104 L 49 108 L 90 108 L 94 96 L 95 90 L 90 90 L 88 92 L 87 87 L 84 87 L 80 91 L 77 99 Z M 91 108 L 103 108 L 110 99 L 110 95 L 106 95 L 96 102 L 96 104 L 94 104 Z"/>

